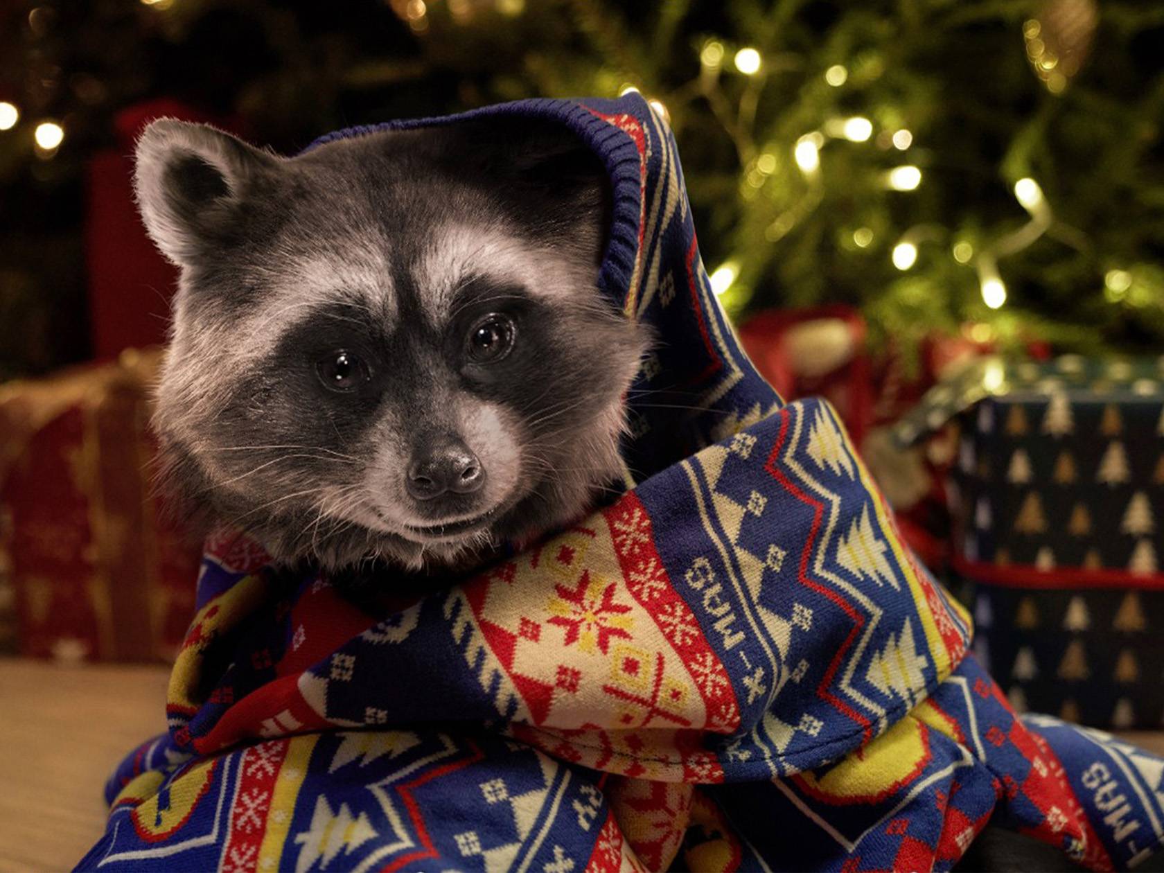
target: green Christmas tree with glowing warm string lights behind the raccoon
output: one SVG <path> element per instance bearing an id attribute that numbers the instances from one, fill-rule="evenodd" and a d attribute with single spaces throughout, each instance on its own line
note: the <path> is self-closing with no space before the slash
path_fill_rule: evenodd
<path id="1" fill-rule="evenodd" d="M 1164 340 L 1164 51 L 1112 0 L 0 3 L 0 374 L 85 354 L 85 161 L 173 97 L 294 151 L 335 127 L 638 88 L 732 313 L 852 304 L 1094 352 Z"/>

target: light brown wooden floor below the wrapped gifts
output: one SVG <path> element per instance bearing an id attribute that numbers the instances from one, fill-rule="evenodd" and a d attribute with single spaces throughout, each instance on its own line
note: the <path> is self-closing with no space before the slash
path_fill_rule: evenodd
<path id="1" fill-rule="evenodd" d="M 106 778 L 165 729 L 166 676 L 0 659 L 0 873 L 68 871 L 97 842 Z M 1164 754 L 1164 733 L 1128 736 Z"/>

